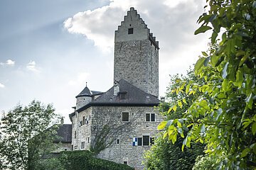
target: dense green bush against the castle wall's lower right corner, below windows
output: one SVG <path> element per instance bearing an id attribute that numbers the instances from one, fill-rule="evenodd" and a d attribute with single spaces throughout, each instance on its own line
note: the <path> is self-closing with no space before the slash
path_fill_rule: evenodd
<path id="1" fill-rule="evenodd" d="M 191 148 L 181 152 L 183 139 L 178 137 L 177 142 L 172 144 L 162 135 L 155 140 L 155 144 L 145 153 L 144 162 L 148 170 L 192 169 L 196 157 L 203 154 L 203 145 L 192 143 Z"/>

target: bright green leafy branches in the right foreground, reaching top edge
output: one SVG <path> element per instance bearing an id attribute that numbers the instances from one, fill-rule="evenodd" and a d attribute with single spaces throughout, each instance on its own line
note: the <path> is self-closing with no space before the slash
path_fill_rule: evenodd
<path id="1" fill-rule="evenodd" d="M 197 95 L 185 111 L 182 121 L 164 121 L 169 140 L 176 141 L 177 133 L 189 128 L 183 140 L 205 142 L 210 155 L 225 154 L 218 169 L 254 169 L 256 167 L 256 1 L 207 0 L 207 13 L 199 17 L 197 33 L 213 30 L 212 44 L 202 52 L 195 65 L 198 78 L 206 84 L 177 88 L 176 93 Z M 220 31 L 221 29 L 221 31 Z M 221 38 L 216 42 L 216 38 Z M 174 109 L 173 109 L 174 110 Z"/>

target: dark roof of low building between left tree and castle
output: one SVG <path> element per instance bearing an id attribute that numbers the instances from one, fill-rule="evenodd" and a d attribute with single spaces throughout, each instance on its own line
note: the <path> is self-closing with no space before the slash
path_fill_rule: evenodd
<path id="1" fill-rule="evenodd" d="M 60 128 L 57 130 L 57 135 L 60 139 L 55 139 L 54 142 L 72 142 L 72 125 L 63 124 L 60 125 Z"/>

